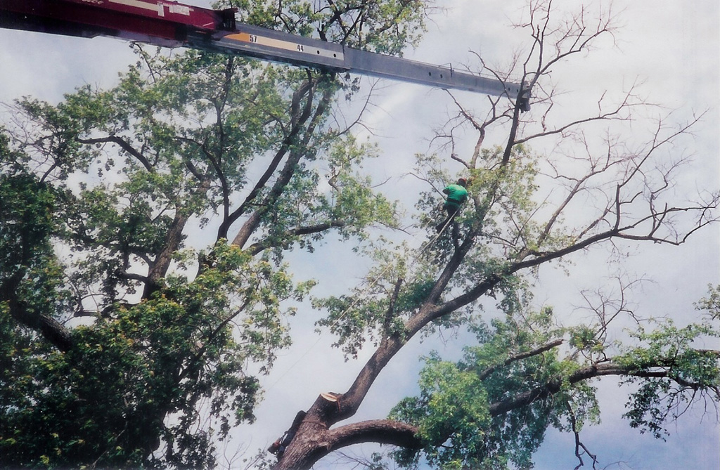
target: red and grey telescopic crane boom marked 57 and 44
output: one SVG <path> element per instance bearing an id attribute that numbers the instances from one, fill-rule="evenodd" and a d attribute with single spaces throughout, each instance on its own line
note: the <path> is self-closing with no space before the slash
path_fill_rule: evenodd
<path id="1" fill-rule="evenodd" d="M 235 10 L 212 10 L 164 0 L 0 0 L 0 27 L 79 37 L 109 36 L 162 47 L 247 55 L 292 65 L 346 71 L 518 99 L 518 83 L 453 68 L 348 48 L 235 22 Z"/>

